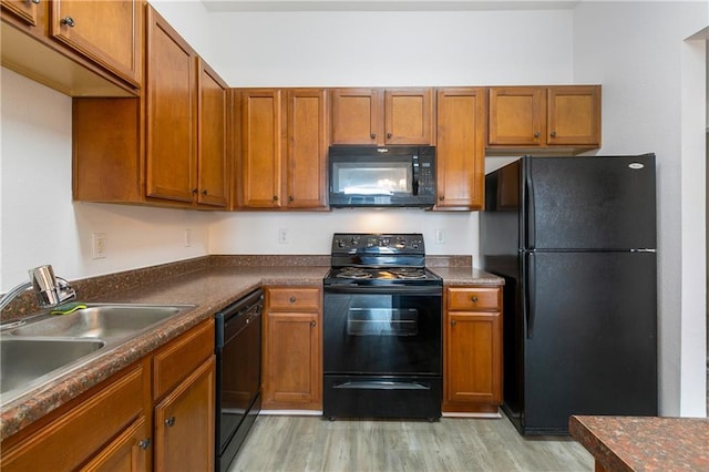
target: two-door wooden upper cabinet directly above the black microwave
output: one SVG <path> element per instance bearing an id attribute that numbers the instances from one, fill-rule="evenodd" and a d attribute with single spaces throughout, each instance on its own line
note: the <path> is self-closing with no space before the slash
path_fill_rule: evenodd
<path id="1" fill-rule="evenodd" d="M 332 89 L 332 144 L 435 142 L 433 89 Z"/>

